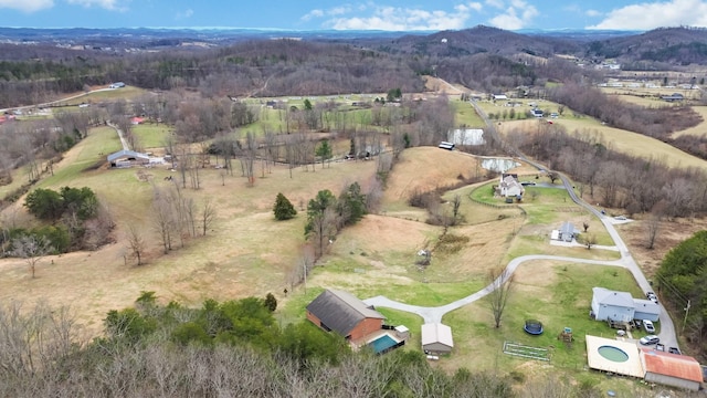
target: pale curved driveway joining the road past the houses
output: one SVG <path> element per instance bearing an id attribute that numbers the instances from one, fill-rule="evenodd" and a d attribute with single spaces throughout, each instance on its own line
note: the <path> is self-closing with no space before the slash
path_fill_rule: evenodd
<path id="1" fill-rule="evenodd" d="M 528 159 L 525 159 L 525 160 L 528 161 Z M 528 161 L 528 163 L 532 164 L 538 169 L 544 169 L 540 165 L 537 165 L 534 161 Z M 552 260 L 552 261 L 564 261 L 564 262 L 572 262 L 572 263 L 582 263 L 582 264 L 622 266 L 629 270 L 633 274 L 633 277 L 636 280 L 636 283 L 639 284 L 639 286 L 641 286 L 641 290 L 643 290 L 644 293 L 650 291 L 651 284 L 648 283 L 645 275 L 639 268 L 639 264 L 636 264 L 636 262 L 633 260 L 633 256 L 631 256 L 631 252 L 629 252 L 629 248 L 619 235 L 619 232 L 616 232 L 616 229 L 612 223 L 613 218 L 602 214 L 599 210 L 594 209 L 592 206 L 585 203 L 583 200 L 578 198 L 577 195 L 574 193 L 574 190 L 572 189 L 572 185 L 569 181 L 569 179 L 563 175 L 560 175 L 560 178 L 562 179 L 564 189 L 569 192 L 570 198 L 572 198 L 572 200 L 576 203 L 587 208 L 590 212 L 592 212 L 594 216 L 597 216 L 601 220 L 601 222 L 604 224 L 604 228 L 606 229 L 606 231 L 609 231 L 609 234 L 613 239 L 616 249 L 621 253 L 621 259 L 614 260 L 614 261 L 601 261 L 601 260 L 576 259 L 576 258 L 559 256 L 559 255 L 542 255 L 542 254 L 524 255 L 524 256 L 513 259 L 506 266 L 506 272 L 504 272 L 500 277 L 506 277 L 506 279 L 510 277 L 510 275 L 513 275 L 513 273 L 516 271 L 518 265 L 523 264 L 526 261 Z M 481 291 L 474 294 L 471 294 L 464 298 L 457 300 L 446 305 L 436 306 L 436 307 L 410 305 L 410 304 L 400 303 L 400 302 L 390 300 L 386 296 L 371 297 L 371 298 L 365 300 L 365 303 L 368 305 L 382 306 L 382 307 L 389 307 L 393 310 L 405 311 L 409 313 L 414 313 L 422 316 L 425 323 L 441 323 L 442 317 L 446 313 L 461 308 L 464 305 L 471 304 L 484 297 L 488 293 L 490 293 L 494 286 L 498 286 L 502 284 L 497 282 L 492 283 L 486 287 L 482 289 Z M 502 281 L 502 282 L 505 282 L 505 281 Z M 673 325 L 673 320 L 671 318 L 671 316 L 667 314 L 667 312 L 663 306 L 661 306 L 659 320 L 661 320 L 661 323 L 659 323 L 661 333 L 658 334 L 658 336 L 661 337 L 661 342 L 665 344 L 665 346 L 677 347 L 678 346 L 677 337 L 675 335 L 675 326 Z"/>

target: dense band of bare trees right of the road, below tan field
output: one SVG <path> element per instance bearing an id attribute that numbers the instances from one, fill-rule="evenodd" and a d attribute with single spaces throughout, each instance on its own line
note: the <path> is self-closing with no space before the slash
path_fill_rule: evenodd
<path id="1" fill-rule="evenodd" d="M 570 135 L 557 124 L 539 122 L 535 130 L 513 132 L 509 143 L 551 169 L 572 176 L 580 195 L 589 193 L 605 207 L 669 218 L 707 212 L 707 176 L 703 170 L 669 168 L 659 159 L 621 154 L 598 134 Z"/>

